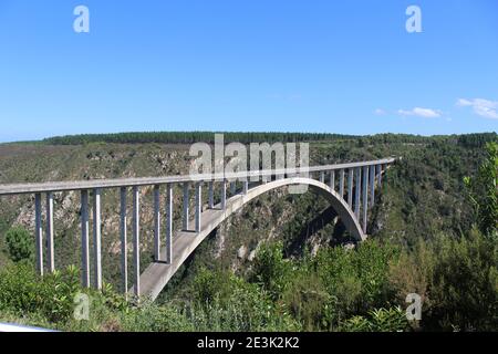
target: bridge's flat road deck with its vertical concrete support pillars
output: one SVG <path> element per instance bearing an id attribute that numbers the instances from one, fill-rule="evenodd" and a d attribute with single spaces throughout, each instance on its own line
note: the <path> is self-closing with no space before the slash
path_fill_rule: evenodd
<path id="1" fill-rule="evenodd" d="M 133 268 L 134 268 L 134 291 L 139 294 L 139 231 L 141 231 L 141 187 L 154 187 L 154 259 L 155 261 L 170 263 L 173 259 L 173 186 L 183 187 L 183 230 L 189 229 L 189 201 L 190 186 L 195 186 L 195 231 L 200 232 L 200 220 L 203 212 L 201 188 L 208 184 L 208 208 L 215 208 L 215 184 L 220 186 L 220 208 L 227 206 L 227 185 L 230 184 L 231 194 L 236 194 L 236 181 L 242 183 L 241 192 L 249 190 L 249 181 L 262 181 L 281 179 L 286 177 L 309 177 L 325 184 L 343 198 L 351 209 L 354 209 L 356 218 L 360 220 L 362 209 L 363 230 L 366 232 L 366 214 L 369 209 L 369 190 L 371 204 L 375 200 L 375 184 L 381 185 L 382 174 L 386 166 L 395 162 L 394 157 L 354 162 L 334 165 L 297 167 L 283 169 L 264 169 L 222 174 L 193 174 L 165 177 L 145 178 L 115 178 L 115 179 L 93 179 L 80 181 L 49 181 L 37 184 L 9 184 L 0 185 L 0 197 L 15 195 L 34 195 L 34 236 L 37 269 L 43 275 L 44 272 L 44 248 L 43 235 L 46 239 L 46 268 L 50 272 L 55 270 L 54 263 L 54 194 L 62 191 L 80 191 L 81 194 L 81 259 L 82 259 L 82 284 L 91 287 L 90 267 L 90 217 L 89 201 L 90 191 L 93 191 L 93 287 L 102 288 L 102 219 L 101 219 L 101 196 L 103 189 L 120 189 L 120 238 L 121 238 L 121 268 L 122 268 L 122 290 L 128 291 L 127 275 L 127 192 L 132 189 L 132 235 L 133 235 Z M 338 174 L 338 178 L 335 178 Z M 370 185 L 370 186 L 369 186 Z M 160 186 L 166 186 L 166 231 L 165 231 L 165 259 L 162 259 L 162 235 L 160 235 Z M 347 188 L 347 190 L 345 189 Z M 45 196 L 45 225 L 42 225 L 42 195 Z M 363 196 L 363 198 L 362 198 Z M 347 199 L 346 199 L 347 198 Z M 362 202 L 361 202 L 362 200 Z M 361 206 L 362 205 L 362 206 Z M 362 207 L 362 208 L 361 208 Z"/>

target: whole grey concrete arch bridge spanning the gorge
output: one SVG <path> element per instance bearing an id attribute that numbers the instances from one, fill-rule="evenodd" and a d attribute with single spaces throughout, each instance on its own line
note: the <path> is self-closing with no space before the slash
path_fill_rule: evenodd
<path id="1" fill-rule="evenodd" d="M 43 184 L 0 185 L 0 197 L 34 195 L 34 237 L 37 268 L 41 275 L 54 271 L 54 192 L 79 191 L 81 195 L 81 272 L 83 287 L 102 288 L 102 219 L 103 189 L 118 188 L 121 196 L 121 274 L 125 294 L 157 298 L 178 268 L 203 240 L 224 220 L 252 199 L 276 188 L 293 186 L 322 195 L 339 215 L 346 230 L 357 240 L 366 238 L 367 210 L 382 185 L 383 173 L 395 158 L 312 166 L 282 170 L 257 170 L 222 175 L 167 176 L 151 178 L 95 179 Z M 251 183 L 250 183 L 251 181 Z M 181 185 L 181 228 L 173 228 L 173 187 Z M 141 271 L 141 195 L 143 187 L 154 188 L 154 261 Z M 208 188 L 207 204 L 203 202 L 203 187 Z M 237 188 L 237 187 L 240 188 Z M 230 197 L 227 197 L 227 189 Z M 133 208 L 127 210 L 127 195 L 132 190 Z M 194 218 L 190 219 L 190 191 L 194 189 Z M 92 195 L 90 198 L 90 191 Z M 165 194 L 162 198 L 162 192 Z M 215 194 L 220 202 L 215 205 Z M 43 198 L 44 197 L 44 198 Z M 42 200 L 44 199 L 44 200 Z M 92 200 L 90 200 L 92 199 Z M 166 204 L 160 214 L 162 200 Z M 42 201 L 45 202 L 44 218 Z M 92 201 L 92 208 L 89 208 Z M 89 211 L 93 212 L 92 228 Z M 128 264 L 128 217 L 132 225 L 133 262 Z M 165 226 L 162 227 L 164 220 Z M 43 222 L 44 221 L 44 222 Z M 90 237 L 93 252 L 90 257 Z M 46 260 L 44 260 L 46 257 Z M 91 273 L 91 261 L 93 262 Z M 128 267 L 134 269 L 133 287 L 128 289 Z M 92 279 L 91 279 L 92 278 Z M 91 282 L 92 280 L 92 282 Z"/>

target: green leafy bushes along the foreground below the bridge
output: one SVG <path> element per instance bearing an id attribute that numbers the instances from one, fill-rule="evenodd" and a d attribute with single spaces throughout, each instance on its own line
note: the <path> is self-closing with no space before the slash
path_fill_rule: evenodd
<path id="1" fill-rule="evenodd" d="M 445 236 L 414 250 L 370 240 L 300 260 L 264 246 L 252 277 L 197 272 L 188 299 L 134 305 L 110 287 L 80 288 L 77 269 L 40 280 L 32 267 L 0 273 L 0 320 L 98 331 L 496 331 L 498 248 L 475 231 Z M 91 296 L 89 321 L 74 320 L 74 298 Z M 422 321 L 408 322 L 405 296 L 424 299 Z"/>

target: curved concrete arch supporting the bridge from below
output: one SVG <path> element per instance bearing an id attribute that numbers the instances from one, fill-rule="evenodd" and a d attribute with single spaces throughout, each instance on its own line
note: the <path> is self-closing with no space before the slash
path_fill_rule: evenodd
<path id="1" fill-rule="evenodd" d="M 173 260 L 170 264 L 154 262 L 151 263 L 141 274 L 141 295 L 149 296 L 155 300 L 163 288 L 176 273 L 178 268 L 194 252 L 194 250 L 203 242 L 203 240 L 215 230 L 222 221 L 230 217 L 234 212 L 241 209 L 252 199 L 266 194 L 270 190 L 291 185 L 307 185 L 311 190 L 323 196 L 338 212 L 341 221 L 347 231 L 357 240 L 363 241 L 366 238 L 360 222 L 354 216 L 346 201 L 340 195 L 332 190 L 328 185 L 311 178 L 290 177 L 261 184 L 250 188 L 247 194 L 232 196 L 227 200 L 225 210 L 218 208 L 207 209 L 201 215 L 200 232 L 178 231 L 173 240 Z M 162 250 L 162 257 L 166 256 L 166 250 Z M 164 259 L 164 258 L 163 258 Z M 131 289 L 134 293 L 134 289 Z"/>

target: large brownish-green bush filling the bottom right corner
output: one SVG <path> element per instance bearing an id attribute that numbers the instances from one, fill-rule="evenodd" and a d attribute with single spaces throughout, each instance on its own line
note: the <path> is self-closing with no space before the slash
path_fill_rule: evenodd
<path id="1" fill-rule="evenodd" d="M 477 230 L 421 242 L 392 264 L 390 280 L 400 304 L 407 293 L 422 296 L 424 330 L 498 327 L 498 246 Z"/>

